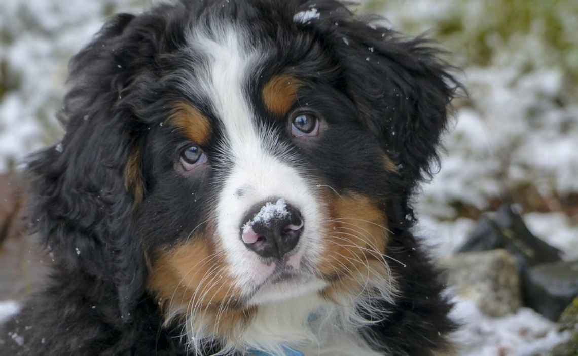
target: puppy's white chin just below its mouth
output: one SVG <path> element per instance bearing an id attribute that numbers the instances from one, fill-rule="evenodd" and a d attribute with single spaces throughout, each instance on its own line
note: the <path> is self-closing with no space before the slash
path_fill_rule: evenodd
<path id="1" fill-rule="evenodd" d="M 276 303 L 301 295 L 317 293 L 327 287 L 327 282 L 315 276 L 300 273 L 279 273 L 262 284 L 249 299 L 249 305 Z"/>

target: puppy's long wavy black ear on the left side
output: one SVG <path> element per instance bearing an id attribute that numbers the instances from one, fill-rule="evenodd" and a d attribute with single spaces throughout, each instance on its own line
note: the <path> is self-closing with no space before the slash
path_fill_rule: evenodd
<path id="1" fill-rule="evenodd" d="M 128 14 L 114 17 L 72 59 L 61 112 L 65 136 L 28 164 L 33 222 L 54 258 L 115 283 L 125 319 L 146 279 L 143 247 L 131 235 L 142 192 L 134 186 L 142 184 L 139 160 L 131 156 L 139 123 L 123 98 L 142 70 L 135 58 L 146 43 L 127 38 L 137 36 L 127 33 L 132 21 Z"/>

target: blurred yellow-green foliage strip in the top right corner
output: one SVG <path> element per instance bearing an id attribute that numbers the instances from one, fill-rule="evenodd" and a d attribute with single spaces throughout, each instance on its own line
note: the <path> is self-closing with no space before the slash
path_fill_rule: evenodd
<path id="1" fill-rule="evenodd" d="M 362 10 L 383 13 L 386 17 L 394 13 L 395 17 L 398 9 L 414 3 L 369 0 Z M 440 0 L 439 3 L 440 8 L 433 11 L 433 16 L 394 19 L 400 27 L 396 29 L 414 35 L 427 31 L 445 47 L 464 56 L 468 66 L 501 65 L 509 56 L 526 55 L 518 63 L 525 72 L 537 66 L 561 68 L 578 96 L 578 1 Z"/>

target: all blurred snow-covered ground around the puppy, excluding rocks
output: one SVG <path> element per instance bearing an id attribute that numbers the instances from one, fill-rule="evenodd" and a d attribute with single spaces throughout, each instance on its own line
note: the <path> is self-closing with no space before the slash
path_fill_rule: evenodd
<path id="1" fill-rule="evenodd" d="M 68 58 L 110 13 L 138 12 L 151 2 L 156 1 L 0 1 L 0 171 L 61 136 L 55 112 Z M 464 68 L 458 75 L 470 97 L 456 102 L 442 169 L 417 202 L 417 230 L 432 237 L 442 254 L 451 253 L 475 224 L 457 207 L 484 211 L 496 198 L 506 193 L 516 198 L 531 186 L 549 202 L 548 212 L 524 203 L 525 222 L 564 250 L 565 258 L 578 258 L 577 216 L 557 208 L 578 194 L 578 8 L 572 1 L 556 2 L 562 5 L 553 10 L 536 5 L 524 10 L 536 15 L 527 29 L 513 21 L 512 28 L 521 29 L 504 36 L 499 3 L 367 0 L 362 6 L 386 15 L 392 27 L 406 33 L 431 31 L 454 51 L 451 61 Z M 551 19 L 540 17 L 540 11 L 557 19 L 555 40 L 549 35 Z M 553 47 L 558 40 L 565 41 L 562 50 Z M 16 308 L 0 303 L 0 320 Z M 488 318 L 461 301 L 455 314 L 468 325 L 460 334 L 468 344 L 462 355 L 532 355 L 565 337 L 527 309 Z"/>

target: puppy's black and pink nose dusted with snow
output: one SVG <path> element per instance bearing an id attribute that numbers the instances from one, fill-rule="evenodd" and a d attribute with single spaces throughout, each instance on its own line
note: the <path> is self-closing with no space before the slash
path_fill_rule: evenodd
<path id="1" fill-rule="evenodd" d="M 297 246 L 303 232 L 301 212 L 284 199 L 255 204 L 241 227 L 245 246 L 261 257 L 281 258 Z"/>

